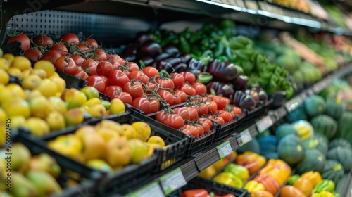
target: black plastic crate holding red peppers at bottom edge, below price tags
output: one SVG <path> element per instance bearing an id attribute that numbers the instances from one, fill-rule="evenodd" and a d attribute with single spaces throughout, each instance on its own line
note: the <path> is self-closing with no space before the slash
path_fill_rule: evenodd
<path id="1" fill-rule="evenodd" d="M 217 182 L 209 181 L 201 178 L 194 178 L 188 184 L 177 191 L 172 192 L 168 197 L 179 197 L 183 191 L 189 189 L 206 189 L 206 191 L 213 192 L 215 195 L 223 196 L 225 194 L 233 194 L 236 197 L 245 197 L 248 195 L 244 189 L 235 189 L 225 184 L 219 184 Z"/>

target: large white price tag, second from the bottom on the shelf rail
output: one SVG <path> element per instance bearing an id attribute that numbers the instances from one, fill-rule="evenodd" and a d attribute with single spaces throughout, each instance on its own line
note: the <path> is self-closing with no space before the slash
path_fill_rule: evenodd
<path id="1" fill-rule="evenodd" d="M 168 195 L 172 193 L 172 191 L 175 191 L 176 189 L 179 189 L 182 186 L 187 185 L 187 182 L 184 179 L 184 176 L 182 174 L 180 167 L 177 168 L 176 170 L 169 172 L 168 174 L 165 174 L 163 177 L 160 177 L 160 179 L 161 179 L 161 186 L 163 187 L 163 191 L 165 195 Z"/>

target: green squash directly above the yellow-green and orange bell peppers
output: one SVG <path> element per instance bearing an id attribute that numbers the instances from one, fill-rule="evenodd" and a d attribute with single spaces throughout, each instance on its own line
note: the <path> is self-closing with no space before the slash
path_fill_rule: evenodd
<path id="1" fill-rule="evenodd" d="M 321 173 L 325 167 L 325 155 L 317 149 L 306 151 L 306 156 L 301 163 L 298 163 L 296 168 L 297 174 L 303 174 L 308 171 L 316 171 Z"/>

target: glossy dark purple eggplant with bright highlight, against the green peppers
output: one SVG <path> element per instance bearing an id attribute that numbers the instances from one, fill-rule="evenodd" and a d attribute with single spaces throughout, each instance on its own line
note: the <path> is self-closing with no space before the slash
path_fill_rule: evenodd
<path id="1" fill-rule="evenodd" d="M 215 80 L 221 82 L 232 82 L 237 77 L 237 68 L 232 63 L 214 60 L 208 64 L 208 70 Z"/>

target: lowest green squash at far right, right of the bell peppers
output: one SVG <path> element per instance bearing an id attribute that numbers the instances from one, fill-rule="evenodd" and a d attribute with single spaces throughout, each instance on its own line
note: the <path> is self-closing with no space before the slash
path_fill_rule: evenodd
<path id="1" fill-rule="evenodd" d="M 327 160 L 324 170 L 322 170 L 322 179 L 329 179 L 337 183 L 344 176 L 344 167 L 337 160 Z"/>

